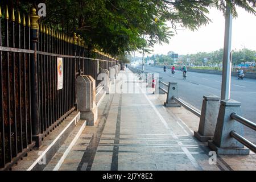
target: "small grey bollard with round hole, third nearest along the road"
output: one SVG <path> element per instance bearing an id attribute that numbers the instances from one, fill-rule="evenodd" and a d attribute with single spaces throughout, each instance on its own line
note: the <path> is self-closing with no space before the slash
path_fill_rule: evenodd
<path id="1" fill-rule="evenodd" d="M 181 105 L 179 103 L 177 103 L 175 100 L 173 100 L 172 97 L 179 98 L 178 89 L 177 89 L 177 82 L 169 82 L 167 98 L 166 98 L 166 102 L 164 102 L 164 106 L 166 106 L 166 107 L 180 107 Z"/>

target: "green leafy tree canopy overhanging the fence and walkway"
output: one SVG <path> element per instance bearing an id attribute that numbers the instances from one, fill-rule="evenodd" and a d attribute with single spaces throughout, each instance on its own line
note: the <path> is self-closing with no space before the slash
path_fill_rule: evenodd
<path id="1" fill-rule="evenodd" d="M 256 14 L 255 0 L 44 0 L 47 16 L 43 22 L 72 35 L 77 32 L 89 49 L 97 48 L 112 56 L 125 55 L 156 43 L 169 43 L 176 27 L 196 30 L 208 24 L 208 7 L 216 6 L 225 14 L 228 3 Z M 3 2 L 6 3 L 6 2 Z M 39 1 L 7 1 L 24 4 Z M 2 4 L 2 1 L 1 1 Z M 171 22 L 172 27 L 167 27 Z"/>

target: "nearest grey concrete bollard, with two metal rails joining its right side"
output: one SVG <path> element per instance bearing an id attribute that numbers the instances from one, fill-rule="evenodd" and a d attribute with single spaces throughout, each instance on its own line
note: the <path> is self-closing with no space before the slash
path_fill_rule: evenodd
<path id="1" fill-rule="evenodd" d="M 243 126 L 240 122 L 230 118 L 230 114 L 241 115 L 241 103 L 234 100 L 222 100 L 213 140 L 208 141 L 208 146 L 217 154 L 249 155 L 250 150 L 233 137 L 231 131 L 236 131 L 243 136 Z"/>

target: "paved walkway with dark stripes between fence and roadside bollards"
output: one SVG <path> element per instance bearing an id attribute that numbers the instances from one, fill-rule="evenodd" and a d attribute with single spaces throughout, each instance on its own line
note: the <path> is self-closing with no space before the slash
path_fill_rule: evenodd
<path id="1" fill-rule="evenodd" d="M 199 118 L 164 107 L 166 95 L 156 97 L 140 83 L 128 69 L 119 73 L 97 125 L 85 127 L 59 170 L 256 170 L 255 154 L 217 156 L 209 164 L 207 143 L 192 134 Z M 113 93 L 117 88 L 123 93 Z"/>

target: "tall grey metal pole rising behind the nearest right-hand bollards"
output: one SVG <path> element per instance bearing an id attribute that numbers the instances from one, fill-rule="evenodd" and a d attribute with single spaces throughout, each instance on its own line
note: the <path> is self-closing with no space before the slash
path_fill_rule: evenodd
<path id="1" fill-rule="evenodd" d="M 232 67 L 231 38 L 232 38 L 232 14 L 231 14 L 229 5 L 226 5 L 221 100 L 230 100 L 230 82 L 231 82 L 231 67 Z"/>

